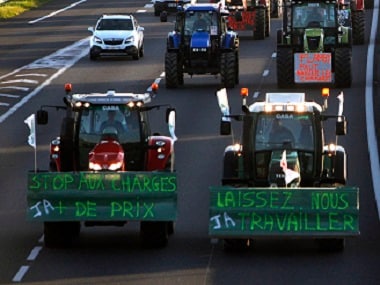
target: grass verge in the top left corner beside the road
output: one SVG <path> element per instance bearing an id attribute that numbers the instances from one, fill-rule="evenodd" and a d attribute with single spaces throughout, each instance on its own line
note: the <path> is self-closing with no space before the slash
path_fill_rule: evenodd
<path id="1" fill-rule="evenodd" d="M 9 19 L 50 0 L 9 0 L 0 4 L 0 19 Z"/>

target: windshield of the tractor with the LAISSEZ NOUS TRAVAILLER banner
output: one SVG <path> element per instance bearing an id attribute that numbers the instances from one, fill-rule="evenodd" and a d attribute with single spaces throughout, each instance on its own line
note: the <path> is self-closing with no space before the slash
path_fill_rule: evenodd
<path id="1" fill-rule="evenodd" d="M 310 115 L 263 113 L 258 116 L 255 133 L 256 150 L 314 150 L 314 129 Z"/>

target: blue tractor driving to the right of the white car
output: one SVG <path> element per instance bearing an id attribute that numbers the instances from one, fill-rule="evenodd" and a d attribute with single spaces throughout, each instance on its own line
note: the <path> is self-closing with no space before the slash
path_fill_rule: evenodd
<path id="1" fill-rule="evenodd" d="M 165 53 L 166 88 L 183 85 L 183 74 L 220 74 L 221 83 L 239 83 L 239 37 L 227 28 L 228 11 L 218 4 L 184 6 L 176 16 Z"/>

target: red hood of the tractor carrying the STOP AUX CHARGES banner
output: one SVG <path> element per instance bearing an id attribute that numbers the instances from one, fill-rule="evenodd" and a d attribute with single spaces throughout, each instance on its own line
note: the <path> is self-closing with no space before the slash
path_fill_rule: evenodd
<path id="1" fill-rule="evenodd" d="M 124 170 L 124 150 L 119 142 L 101 140 L 89 153 L 89 170 Z"/>

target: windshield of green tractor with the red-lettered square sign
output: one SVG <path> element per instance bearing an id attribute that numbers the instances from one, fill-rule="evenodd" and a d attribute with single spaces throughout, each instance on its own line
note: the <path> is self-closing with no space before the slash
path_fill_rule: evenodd
<path id="1" fill-rule="evenodd" d="M 336 27 L 335 4 L 301 3 L 292 7 L 293 28 L 333 28 Z"/>

